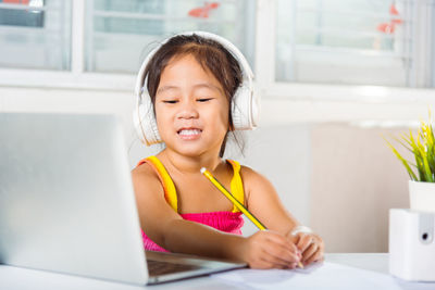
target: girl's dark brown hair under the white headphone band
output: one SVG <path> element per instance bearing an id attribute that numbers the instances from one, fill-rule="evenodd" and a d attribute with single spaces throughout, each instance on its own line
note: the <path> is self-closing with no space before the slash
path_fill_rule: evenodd
<path id="1" fill-rule="evenodd" d="M 147 89 L 151 98 L 153 113 L 156 116 L 156 92 L 159 88 L 160 77 L 163 70 L 174 58 L 184 55 L 192 55 L 204 71 L 209 71 L 221 84 L 225 97 L 228 100 L 228 123 L 229 128 L 225 135 L 219 155 L 222 157 L 225 152 L 228 134 L 233 137 L 243 152 L 243 146 L 238 142 L 234 134 L 232 102 L 234 93 L 241 85 L 243 74 L 238 61 L 229 53 L 220 42 L 208 39 L 198 35 L 177 35 L 170 38 L 160 49 L 153 54 L 145 68 L 145 77 L 148 77 Z"/>

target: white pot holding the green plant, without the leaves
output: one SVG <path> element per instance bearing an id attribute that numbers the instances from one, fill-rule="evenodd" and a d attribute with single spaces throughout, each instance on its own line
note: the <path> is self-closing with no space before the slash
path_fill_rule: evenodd
<path id="1" fill-rule="evenodd" d="M 435 212 L 435 182 L 409 180 L 409 198 L 411 210 Z"/>

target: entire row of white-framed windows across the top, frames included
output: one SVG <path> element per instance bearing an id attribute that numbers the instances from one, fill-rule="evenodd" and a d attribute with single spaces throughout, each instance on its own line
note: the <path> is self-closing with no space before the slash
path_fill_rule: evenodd
<path id="1" fill-rule="evenodd" d="M 186 30 L 240 48 L 264 98 L 435 87 L 435 0 L 0 0 L 0 85 L 129 90 L 149 51 Z"/>

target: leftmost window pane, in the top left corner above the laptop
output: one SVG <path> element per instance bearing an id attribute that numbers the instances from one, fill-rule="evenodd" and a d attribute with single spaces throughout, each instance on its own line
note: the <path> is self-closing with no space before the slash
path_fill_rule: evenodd
<path id="1" fill-rule="evenodd" d="M 71 2 L 0 0 L 0 66 L 70 70 Z"/>

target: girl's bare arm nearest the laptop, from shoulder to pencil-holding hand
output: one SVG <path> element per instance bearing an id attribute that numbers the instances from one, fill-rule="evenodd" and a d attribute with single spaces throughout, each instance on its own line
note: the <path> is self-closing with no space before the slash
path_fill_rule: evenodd
<path id="1" fill-rule="evenodd" d="M 133 184 L 141 228 L 171 252 L 244 261 L 253 268 L 294 268 L 299 262 L 296 247 L 277 232 L 259 231 L 245 238 L 183 219 L 165 201 L 149 166 L 133 171 Z"/>

